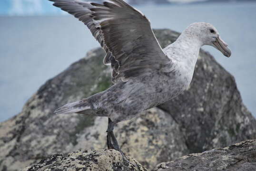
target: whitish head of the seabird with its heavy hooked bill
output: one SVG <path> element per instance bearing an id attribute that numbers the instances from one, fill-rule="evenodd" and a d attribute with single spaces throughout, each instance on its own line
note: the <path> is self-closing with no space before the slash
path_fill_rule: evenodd
<path id="1" fill-rule="evenodd" d="M 209 45 L 217 48 L 226 57 L 231 56 L 231 51 L 227 47 L 225 41 L 220 38 L 217 29 L 206 22 L 192 23 L 184 32 L 191 37 L 196 37 L 201 42 L 202 46 Z"/>

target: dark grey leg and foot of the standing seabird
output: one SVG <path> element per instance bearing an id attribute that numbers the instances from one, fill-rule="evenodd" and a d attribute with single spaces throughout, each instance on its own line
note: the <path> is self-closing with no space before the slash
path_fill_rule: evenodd
<path id="1" fill-rule="evenodd" d="M 121 153 L 122 158 L 123 158 L 124 161 L 130 163 L 130 164 L 133 165 L 134 167 L 139 168 L 137 163 L 136 163 L 136 164 L 137 164 L 137 166 L 136 166 L 135 164 L 133 164 L 133 163 L 131 163 L 130 161 L 128 161 L 128 160 L 126 159 L 124 153 L 121 151 L 121 149 L 120 149 L 120 147 L 119 147 L 119 145 L 118 145 L 118 141 L 117 141 L 117 139 L 116 139 L 116 137 L 115 137 L 115 134 L 113 133 L 114 126 L 115 126 L 115 123 L 113 123 L 113 122 L 111 121 L 111 119 L 108 118 L 108 130 L 107 130 L 107 145 L 108 145 L 108 149 L 115 149 L 115 150 L 117 150 L 118 152 Z M 112 143 L 112 142 L 113 142 L 113 143 Z"/>

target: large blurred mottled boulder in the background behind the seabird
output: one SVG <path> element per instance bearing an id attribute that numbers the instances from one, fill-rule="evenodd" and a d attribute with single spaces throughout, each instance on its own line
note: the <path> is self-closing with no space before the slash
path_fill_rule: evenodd
<path id="1" fill-rule="evenodd" d="M 162 47 L 179 35 L 167 29 L 155 33 Z M 53 114 L 111 85 L 103 57 L 101 48 L 90 51 L 42 85 L 20 114 L 0 123 L 0 171 L 17 171 L 56 153 L 107 147 L 107 118 Z M 115 134 L 128 156 L 152 169 L 191 152 L 254 139 L 256 120 L 242 103 L 234 77 L 201 51 L 187 91 L 118 124 Z"/>

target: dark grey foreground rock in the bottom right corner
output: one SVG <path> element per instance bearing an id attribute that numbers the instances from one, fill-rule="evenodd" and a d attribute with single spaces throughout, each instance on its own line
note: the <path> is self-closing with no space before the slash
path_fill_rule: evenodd
<path id="1" fill-rule="evenodd" d="M 256 171 L 256 140 L 189 154 L 160 163 L 153 171 Z"/>

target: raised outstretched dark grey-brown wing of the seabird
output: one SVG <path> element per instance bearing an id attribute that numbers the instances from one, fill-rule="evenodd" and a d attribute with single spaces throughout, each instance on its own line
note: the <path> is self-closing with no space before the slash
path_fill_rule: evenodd
<path id="1" fill-rule="evenodd" d="M 79 0 L 51 0 L 84 22 L 105 49 L 105 65 L 112 66 L 112 81 L 161 70 L 169 62 L 150 22 L 138 10 L 123 0 L 108 0 L 103 4 Z"/>

